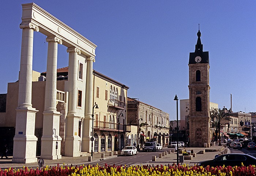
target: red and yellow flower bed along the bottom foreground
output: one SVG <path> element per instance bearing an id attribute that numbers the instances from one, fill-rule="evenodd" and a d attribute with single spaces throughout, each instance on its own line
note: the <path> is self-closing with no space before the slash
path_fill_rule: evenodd
<path id="1" fill-rule="evenodd" d="M 0 169 L 0 176 L 55 176 L 55 175 L 71 175 L 71 176 L 253 176 L 256 173 L 255 166 L 249 167 L 202 167 L 202 166 L 188 166 L 188 165 L 156 165 L 155 167 L 150 165 L 142 166 L 108 166 L 100 167 L 98 165 L 80 165 L 79 167 L 44 167 L 41 170 L 28 169 Z"/>

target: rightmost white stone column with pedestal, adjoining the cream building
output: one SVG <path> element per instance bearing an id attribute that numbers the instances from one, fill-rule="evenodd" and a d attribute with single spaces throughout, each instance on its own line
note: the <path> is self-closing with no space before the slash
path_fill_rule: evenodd
<path id="1" fill-rule="evenodd" d="M 82 151 L 91 151 L 90 137 L 92 133 L 92 117 L 93 113 L 93 62 L 94 57 L 87 57 L 87 69 L 86 69 L 86 92 L 85 92 L 85 110 L 84 110 L 84 122 L 83 122 L 83 136 L 82 136 Z"/>

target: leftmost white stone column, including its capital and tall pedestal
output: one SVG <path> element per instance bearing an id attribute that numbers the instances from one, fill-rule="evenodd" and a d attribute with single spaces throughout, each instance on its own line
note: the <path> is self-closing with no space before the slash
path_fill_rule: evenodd
<path id="1" fill-rule="evenodd" d="M 12 162 L 36 162 L 37 137 L 35 137 L 35 113 L 32 108 L 32 62 L 34 30 L 39 27 L 33 23 L 20 24 L 22 43 L 20 55 L 19 96 L 16 109 L 16 126 Z"/>

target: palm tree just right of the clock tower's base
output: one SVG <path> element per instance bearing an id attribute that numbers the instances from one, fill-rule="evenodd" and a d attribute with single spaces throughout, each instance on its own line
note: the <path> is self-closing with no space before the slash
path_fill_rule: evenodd
<path id="1" fill-rule="evenodd" d="M 230 120 L 229 113 L 224 112 L 224 110 L 217 110 L 214 108 L 210 111 L 211 119 L 213 119 L 213 125 L 218 129 L 219 132 L 219 146 L 221 146 L 221 123 L 225 120 Z"/>

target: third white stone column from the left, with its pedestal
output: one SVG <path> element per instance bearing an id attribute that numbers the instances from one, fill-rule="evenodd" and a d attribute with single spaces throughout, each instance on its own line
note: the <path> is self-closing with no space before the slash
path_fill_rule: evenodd
<path id="1" fill-rule="evenodd" d="M 78 54 L 81 51 L 76 47 L 69 47 L 68 59 L 68 115 L 65 138 L 65 156 L 80 156 L 80 141 L 78 136 L 79 116 L 76 115 L 77 106 L 77 81 L 78 81 Z M 82 92 L 83 93 L 83 92 Z M 83 94 L 82 94 L 83 95 Z"/>

